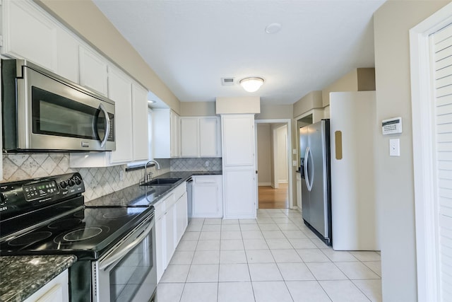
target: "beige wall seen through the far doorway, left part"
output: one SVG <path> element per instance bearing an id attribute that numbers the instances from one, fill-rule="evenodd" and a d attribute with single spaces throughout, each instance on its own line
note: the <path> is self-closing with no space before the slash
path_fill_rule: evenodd
<path id="1" fill-rule="evenodd" d="M 271 183 L 271 141 L 270 124 L 257 124 L 257 170 L 258 183 L 260 185 L 270 185 Z"/>

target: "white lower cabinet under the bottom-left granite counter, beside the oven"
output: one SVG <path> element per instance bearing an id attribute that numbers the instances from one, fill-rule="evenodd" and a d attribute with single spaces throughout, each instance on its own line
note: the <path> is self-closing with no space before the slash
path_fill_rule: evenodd
<path id="1" fill-rule="evenodd" d="M 69 274 L 66 269 L 49 283 L 42 286 L 24 302 L 68 302 L 69 301 Z"/>

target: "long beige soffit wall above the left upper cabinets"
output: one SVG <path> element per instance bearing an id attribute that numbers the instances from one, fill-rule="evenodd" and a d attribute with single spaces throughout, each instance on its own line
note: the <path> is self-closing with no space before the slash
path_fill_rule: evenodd
<path id="1" fill-rule="evenodd" d="M 35 0 L 35 2 L 179 113 L 179 100 L 176 96 L 92 1 Z"/>

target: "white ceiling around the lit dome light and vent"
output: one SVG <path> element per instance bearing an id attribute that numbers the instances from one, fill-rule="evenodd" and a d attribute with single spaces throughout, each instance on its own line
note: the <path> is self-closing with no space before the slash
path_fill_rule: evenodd
<path id="1" fill-rule="evenodd" d="M 257 95 L 292 104 L 374 66 L 372 14 L 384 0 L 93 0 L 182 102 Z M 279 33 L 266 25 L 280 23 Z M 238 84 L 265 83 L 255 93 Z M 234 77 L 234 86 L 222 86 Z"/>

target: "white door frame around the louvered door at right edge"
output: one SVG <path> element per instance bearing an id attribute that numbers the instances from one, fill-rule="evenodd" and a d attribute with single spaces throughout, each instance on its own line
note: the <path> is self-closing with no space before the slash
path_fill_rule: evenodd
<path id="1" fill-rule="evenodd" d="M 438 203 L 429 35 L 452 23 L 448 4 L 410 30 L 418 301 L 439 301 Z M 429 101 L 425 101 L 429 100 Z M 433 202 L 432 202 L 433 201 Z"/>

